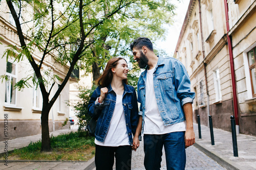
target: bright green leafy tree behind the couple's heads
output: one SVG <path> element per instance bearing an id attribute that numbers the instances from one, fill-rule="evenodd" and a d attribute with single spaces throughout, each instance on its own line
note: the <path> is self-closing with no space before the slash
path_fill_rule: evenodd
<path id="1" fill-rule="evenodd" d="M 109 12 L 108 4 L 105 5 L 104 14 Z M 83 67 L 87 72 L 92 72 L 93 80 L 100 76 L 100 70 L 112 57 L 132 56 L 129 44 L 134 38 L 150 37 L 153 42 L 160 37 L 165 37 L 164 24 L 172 23 L 174 6 L 163 2 L 136 2 L 130 6 L 132 9 L 123 9 L 107 27 L 97 30 L 93 35 L 100 36 L 101 42 L 90 46 L 92 60 L 87 60 L 88 65 Z M 133 59 L 130 58 L 131 63 Z M 138 66 L 133 68 L 138 70 Z"/>

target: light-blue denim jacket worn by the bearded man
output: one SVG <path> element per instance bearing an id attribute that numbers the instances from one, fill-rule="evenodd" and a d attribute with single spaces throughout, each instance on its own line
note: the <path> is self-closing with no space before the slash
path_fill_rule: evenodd
<path id="1" fill-rule="evenodd" d="M 139 115 L 145 117 L 145 82 L 147 68 L 138 80 Z M 158 110 L 163 124 L 172 125 L 183 122 L 183 105 L 193 103 L 195 93 L 190 91 L 190 80 L 184 65 L 175 58 L 159 57 L 153 73 L 153 82 Z"/>

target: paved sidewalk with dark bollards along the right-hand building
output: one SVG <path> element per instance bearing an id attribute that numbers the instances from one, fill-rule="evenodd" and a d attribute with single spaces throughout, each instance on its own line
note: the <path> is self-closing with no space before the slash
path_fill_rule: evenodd
<path id="1" fill-rule="evenodd" d="M 196 133 L 195 147 L 225 168 L 240 170 L 256 169 L 255 136 L 238 134 L 238 157 L 234 157 L 231 132 L 214 128 L 215 145 L 211 145 L 210 130 L 207 126 L 201 125 L 202 139 L 199 139 L 198 124 L 194 124 L 194 129 Z"/>

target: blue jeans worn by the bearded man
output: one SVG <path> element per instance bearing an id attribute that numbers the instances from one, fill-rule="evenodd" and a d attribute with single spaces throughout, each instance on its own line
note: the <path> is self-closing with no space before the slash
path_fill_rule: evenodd
<path id="1" fill-rule="evenodd" d="M 186 165 L 185 132 L 172 132 L 162 135 L 144 135 L 144 166 L 146 170 L 161 167 L 164 146 L 167 169 L 182 170 Z"/>

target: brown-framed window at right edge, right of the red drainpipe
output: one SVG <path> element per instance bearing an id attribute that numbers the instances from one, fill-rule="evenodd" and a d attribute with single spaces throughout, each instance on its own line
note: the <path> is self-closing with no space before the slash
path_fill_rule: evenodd
<path id="1" fill-rule="evenodd" d="M 251 89 L 252 96 L 256 97 L 256 57 L 255 57 L 256 47 L 254 47 L 251 51 L 247 53 L 248 62 L 249 62 L 249 70 L 250 70 L 250 79 L 251 79 Z"/>

